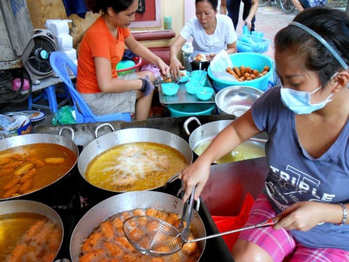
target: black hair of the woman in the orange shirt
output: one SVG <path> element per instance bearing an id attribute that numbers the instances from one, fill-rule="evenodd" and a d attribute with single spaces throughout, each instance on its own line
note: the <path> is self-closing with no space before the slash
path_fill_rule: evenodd
<path id="1" fill-rule="evenodd" d="M 93 13 L 107 12 L 108 7 L 111 7 L 115 13 L 125 11 L 136 0 L 85 0 L 85 3 Z"/>

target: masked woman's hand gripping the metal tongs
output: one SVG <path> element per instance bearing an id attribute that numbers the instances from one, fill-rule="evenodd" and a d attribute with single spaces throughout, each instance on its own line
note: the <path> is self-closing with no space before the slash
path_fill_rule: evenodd
<path id="1" fill-rule="evenodd" d="M 190 196 L 192 188 L 197 186 L 195 190 L 195 199 L 198 200 L 202 189 L 204 188 L 210 171 L 210 163 L 201 162 L 200 157 L 190 166 L 182 170 L 179 178 L 183 180 L 185 194 L 183 202 Z"/>

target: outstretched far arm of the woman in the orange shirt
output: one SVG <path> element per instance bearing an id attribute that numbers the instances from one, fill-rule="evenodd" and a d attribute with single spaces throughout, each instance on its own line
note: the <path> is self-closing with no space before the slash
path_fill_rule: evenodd
<path id="1" fill-rule="evenodd" d="M 166 63 L 162 61 L 159 56 L 151 52 L 146 46 L 142 45 L 136 39 L 134 39 L 132 34 L 125 38 L 125 45 L 136 55 L 141 56 L 147 59 L 149 62 L 157 65 L 163 75 L 169 74 L 169 66 L 166 65 Z"/>

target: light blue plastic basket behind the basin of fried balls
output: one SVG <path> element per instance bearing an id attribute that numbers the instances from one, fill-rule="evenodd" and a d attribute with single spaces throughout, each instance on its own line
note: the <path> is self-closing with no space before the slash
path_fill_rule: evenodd
<path id="1" fill-rule="evenodd" d="M 238 52 L 265 53 L 268 51 L 270 40 L 251 34 L 243 34 L 238 37 Z"/>

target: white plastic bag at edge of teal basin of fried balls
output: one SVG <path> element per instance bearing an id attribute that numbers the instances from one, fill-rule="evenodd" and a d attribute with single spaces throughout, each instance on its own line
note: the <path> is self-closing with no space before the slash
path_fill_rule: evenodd
<path id="1" fill-rule="evenodd" d="M 234 65 L 232 64 L 228 53 L 225 50 L 222 50 L 214 57 L 214 59 L 212 59 L 210 63 L 211 73 L 220 80 L 237 82 L 238 79 L 225 71 L 227 67 L 233 68 Z"/>

